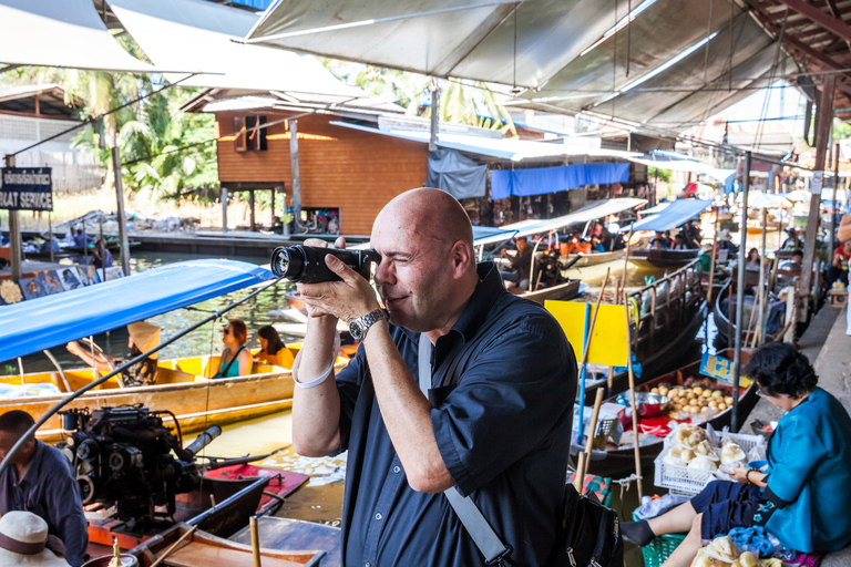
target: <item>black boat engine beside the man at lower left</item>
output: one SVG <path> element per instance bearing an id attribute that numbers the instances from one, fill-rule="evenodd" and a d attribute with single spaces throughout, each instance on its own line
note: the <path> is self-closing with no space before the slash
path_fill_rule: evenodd
<path id="1" fill-rule="evenodd" d="M 155 513 L 174 514 L 175 495 L 201 482 L 195 454 L 222 433 L 214 425 L 184 449 L 163 424 L 165 415 L 174 415 L 141 404 L 60 415 L 70 436 L 57 446 L 71 458 L 83 504 L 114 506 L 114 517 L 130 530 L 152 527 Z"/>

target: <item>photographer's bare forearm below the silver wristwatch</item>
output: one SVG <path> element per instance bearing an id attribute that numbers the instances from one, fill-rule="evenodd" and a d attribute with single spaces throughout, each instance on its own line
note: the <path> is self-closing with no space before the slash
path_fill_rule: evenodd
<path id="1" fill-rule="evenodd" d="M 431 425 L 431 403 L 420 392 L 388 328 L 376 324 L 363 341 L 381 417 L 418 492 L 439 493 L 454 485 Z"/>

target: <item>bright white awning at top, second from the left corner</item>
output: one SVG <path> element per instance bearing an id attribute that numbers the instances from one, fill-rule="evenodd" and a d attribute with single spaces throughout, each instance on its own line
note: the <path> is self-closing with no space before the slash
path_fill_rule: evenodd
<path id="1" fill-rule="evenodd" d="M 340 82 L 312 56 L 235 41 L 257 23 L 257 13 L 207 0 L 110 0 L 110 7 L 157 65 L 215 72 L 182 85 L 285 92 L 296 103 L 398 110 Z"/>

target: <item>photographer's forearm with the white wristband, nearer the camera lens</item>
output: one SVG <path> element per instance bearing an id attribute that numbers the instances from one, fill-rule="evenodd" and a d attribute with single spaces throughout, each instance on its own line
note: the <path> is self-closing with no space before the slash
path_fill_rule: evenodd
<path id="1" fill-rule="evenodd" d="M 299 382 L 319 378 L 337 359 L 332 352 L 337 321 L 334 318 L 311 318 L 301 347 L 298 367 Z M 295 367 L 294 367 L 295 371 Z M 325 382 L 314 388 L 296 385 L 293 395 L 293 444 L 305 456 L 324 456 L 340 445 L 340 394 L 334 371 Z"/>

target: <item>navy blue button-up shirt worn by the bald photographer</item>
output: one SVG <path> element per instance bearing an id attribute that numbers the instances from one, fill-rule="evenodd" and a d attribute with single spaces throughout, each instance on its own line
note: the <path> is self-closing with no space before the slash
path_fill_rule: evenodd
<path id="1" fill-rule="evenodd" d="M 545 565 L 562 517 L 576 360 L 543 307 L 505 291 L 493 264 L 432 359 L 431 423 L 443 463 L 515 565 Z M 418 380 L 419 333 L 391 326 Z M 348 450 L 347 566 L 484 565 L 443 494 L 414 492 L 381 419 L 361 347 L 337 377 Z"/>

